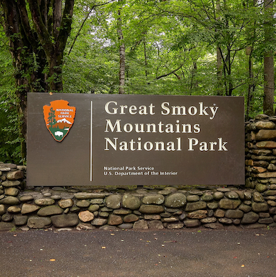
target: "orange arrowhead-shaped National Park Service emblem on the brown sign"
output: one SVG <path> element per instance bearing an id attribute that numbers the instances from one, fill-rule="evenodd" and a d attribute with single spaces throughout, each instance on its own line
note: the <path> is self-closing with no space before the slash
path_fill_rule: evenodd
<path id="1" fill-rule="evenodd" d="M 58 142 L 66 137 L 74 123 L 76 108 L 68 106 L 68 103 L 65 100 L 55 100 L 50 102 L 50 106 L 43 106 L 46 127 Z"/>

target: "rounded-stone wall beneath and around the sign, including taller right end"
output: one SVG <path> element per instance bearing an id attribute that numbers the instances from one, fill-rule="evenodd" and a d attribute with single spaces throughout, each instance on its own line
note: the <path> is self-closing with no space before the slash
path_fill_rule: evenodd
<path id="1" fill-rule="evenodd" d="M 0 230 L 275 227 L 274 120 L 246 123 L 241 187 L 26 188 L 26 167 L 0 163 Z"/>

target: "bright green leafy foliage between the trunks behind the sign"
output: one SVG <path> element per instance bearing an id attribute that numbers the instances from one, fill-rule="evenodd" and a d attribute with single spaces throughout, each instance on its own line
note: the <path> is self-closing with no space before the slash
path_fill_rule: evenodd
<path id="1" fill-rule="evenodd" d="M 245 103 L 249 97 L 249 118 L 262 113 L 264 52 L 276 49 L 266 36 L 275 33 L 275 18 L 269 19 L 259 2 L 257 6 L 251 2 L 75 0 L 63 57 L 63 92 L 118 93 L 121 42 L 117 19 L 123 3 L 120 17 L 126 47 L 126 93 L 217 95 L 221 90 L 223 95 L 244 96 Z M 0 43 L 0 127 L 6 130 L 3 136 L 8 136 L 17 125 L 14 72 L 1 27 Z M 250 54 L 246 54 L 248 48 Z M 222 57 L 220 80 L 217 49 Z M 21 73 L 30 79 L 31 72 L 39 70 L 39 63 L 37 54 L 30 53 L 27 58 L 29 71 Z M 43 73 L 49 74 L 48 69 Z M 8 118 L 7 111 L 11 116 L 8 125 L 3 120 Z"/>

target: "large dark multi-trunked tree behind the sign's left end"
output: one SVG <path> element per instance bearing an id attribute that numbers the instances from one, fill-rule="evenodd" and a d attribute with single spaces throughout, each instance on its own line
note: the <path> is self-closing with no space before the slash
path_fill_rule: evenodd
<path id="1" fill-rule="evenodd" d="M 63 52 L 73 7 L 74 0 L 0 0 L 16 70 L 22 158 L 26 158 L 27 92 L 62 91 Z"/>

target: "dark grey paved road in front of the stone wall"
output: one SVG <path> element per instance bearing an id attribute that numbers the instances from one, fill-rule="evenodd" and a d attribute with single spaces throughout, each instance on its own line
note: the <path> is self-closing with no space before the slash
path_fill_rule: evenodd
<path id="1" fill-rule="evenodd" d="M 0 233 L 0 277 L 273 277 L 276 229 Z"/>

